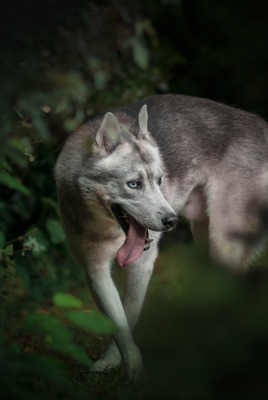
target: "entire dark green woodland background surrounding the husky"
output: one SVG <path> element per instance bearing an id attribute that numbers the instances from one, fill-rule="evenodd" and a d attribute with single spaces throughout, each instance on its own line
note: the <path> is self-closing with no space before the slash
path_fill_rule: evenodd
<path id="1" fill-rule="evenodd" d="M 185 221 L 136 331 L 149 383 L 88 373 L 112 328 L 66 246 L 53 178 L 70 132 L 152 93 L 267 118 L 267 17 L 264 0 L 1 2 L 0 398 L 267 398 L 267 256 L 243 277 L 219 271 Z"/>

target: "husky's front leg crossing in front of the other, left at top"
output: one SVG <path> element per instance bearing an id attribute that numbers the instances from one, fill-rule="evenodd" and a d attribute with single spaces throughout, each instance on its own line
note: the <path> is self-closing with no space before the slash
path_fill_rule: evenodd
<path id="1" fill-rule="evenodd" d="M 132 382 L 144 380 L 144 369 L 139 349 L 133 341 L 127 317 L 111 277 L 111 263 L 122 238 L 90 241 L 87 237 L 70 236 L 72 251 L 83 266 L 89 287 L 100 309 L 117 327 L 114 340 Z M 93 366 L 94 369 L 94 366 Z"/>

